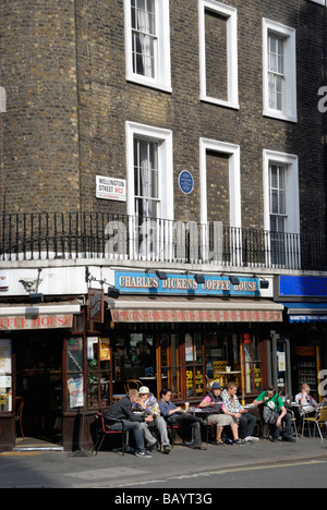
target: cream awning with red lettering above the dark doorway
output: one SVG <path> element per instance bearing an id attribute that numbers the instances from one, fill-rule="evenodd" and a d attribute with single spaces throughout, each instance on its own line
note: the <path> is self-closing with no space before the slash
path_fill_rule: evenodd
<path id="1" fill-rule="evenodd" d="M 61 329 L 73 326 L 73 315 L 81 313 L 77 300 L 53 303 L 0 304 L 0 331 Z"/>

